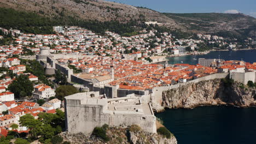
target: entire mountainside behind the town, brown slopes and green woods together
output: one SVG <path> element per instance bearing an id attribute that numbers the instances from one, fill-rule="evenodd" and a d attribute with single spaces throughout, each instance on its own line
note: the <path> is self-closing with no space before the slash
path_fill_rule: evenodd
<path id="1" fill-rule="evenodd" d="M 255 38 L 256 35 L 256 19 L 243 14 L 159 13 L 102 0 L 0 0 L 0 8 L 3 18 L 0 27 L 19 28 L 31 33 L 53 33 L 49 26 L 62 25 L 80 26 L 97 33 L 108 30 L 129 36 L 146 28 L 144 22 L 158 21 L 164 28 L 157 29 L 184 38 L 199 32 L 241 39 Z"/>

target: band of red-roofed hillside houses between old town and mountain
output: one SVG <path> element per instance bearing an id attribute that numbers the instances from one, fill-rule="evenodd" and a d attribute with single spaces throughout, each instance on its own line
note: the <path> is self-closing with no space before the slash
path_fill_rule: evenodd
<path id="1" fill-rule="evenodd" d="M 197 34 L 194 39 L 177 39 L 170 33 L 159 33 L 156 30 L 143 30 L 131 37 L 121 37 L 108 31 L 104 35 L 99 35 L 80 27 L 59 26 L 54 27 L 54 30 L 56 34 L 43 35 L 0 28 L 0 31 L 11 34 L 14 38 L 13 43 L 0 46 L 0 56 L 33 55 L 38 54 L 42 47 L 50 47 L 51 53 L 110 56 L 130 60 L 146 58 L 149 61 L 147 58 L 152 56 L 194 55 L 210 50 L 201 49 L 201 44 L 212 47 L 224 46 L 225 49 L 234 49 L 238 46 L 237 43 L 226 41 L 223 37 L 209 34 Z"/>

